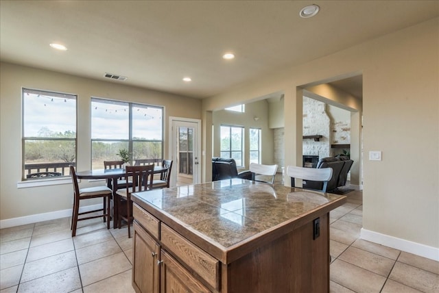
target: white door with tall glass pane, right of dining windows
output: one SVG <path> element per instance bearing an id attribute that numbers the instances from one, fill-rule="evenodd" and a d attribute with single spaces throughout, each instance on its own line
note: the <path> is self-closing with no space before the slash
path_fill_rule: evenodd
<path id="1" fill-rule="evenodd" d="M 172 166 L 170 186 L 200 183 L 201 120 L 170 117 L 169 153 Z"/>

